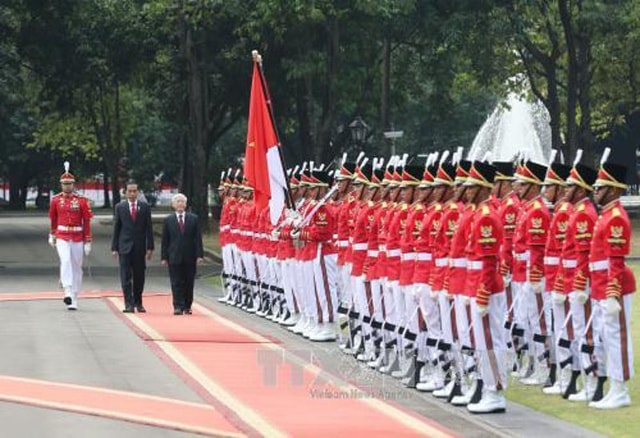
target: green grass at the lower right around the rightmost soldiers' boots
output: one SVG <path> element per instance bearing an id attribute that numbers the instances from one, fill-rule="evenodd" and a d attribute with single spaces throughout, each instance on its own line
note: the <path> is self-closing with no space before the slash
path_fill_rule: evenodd
<path id="1" fill-rule="evenodd" d="M 640 244 L 637 246 L 640 249 Z M 640 278 L 640 262 L 632 262 L 630 266 L 636 278 Z M 631 339 L 634 347 L 634 370 L 637 373 L 640 364 L 640 302 L 637 297 L 634 297 L 631 310 Z M 640 382 L 637 378 L 629 382 L 629 391 L 631 406 L 612 411 L 599 411 L 589 408 L 585 403 L 568 402 L 560 396 L 544 395 L 539 387 L 527 387 L 518 383 L 507 390 L 507 398 L 607 436 L 636 437 L 640 431 Z"/>

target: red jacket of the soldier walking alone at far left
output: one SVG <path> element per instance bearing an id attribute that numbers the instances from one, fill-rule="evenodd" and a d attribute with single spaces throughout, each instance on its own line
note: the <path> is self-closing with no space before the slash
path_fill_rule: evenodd
<path id="1" fill-rule="evenodd" d="M 91 242 L 91 206 L 77 193 L 58 193 L 51 199 L 51 234 L 69 242 Z"/>

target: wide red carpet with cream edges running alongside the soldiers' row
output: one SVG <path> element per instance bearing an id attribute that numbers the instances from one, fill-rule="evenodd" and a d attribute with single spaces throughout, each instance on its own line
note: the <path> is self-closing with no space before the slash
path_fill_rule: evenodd
<path id="1" fill-rule="evenodd" d="M 203 306 L 195 305 L 193 315 L 173 316 L 171 299 L 155 296 L 145 297 L 145 307 L 146 314 L 126 316 L 141 337 L 153 340 L 154 349 L 260 434 L 453 436 L 384 401 L 377 389 L 360 391 L 334 378 L 317 381 L 314 365 Z"/>

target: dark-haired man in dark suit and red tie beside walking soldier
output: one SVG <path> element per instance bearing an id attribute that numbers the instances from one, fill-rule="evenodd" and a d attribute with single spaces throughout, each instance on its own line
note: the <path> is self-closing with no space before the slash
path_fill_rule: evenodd
<path id="1" fill-rule="evenodd" d="M 153 225 L 151 208 L 146 202 L 138 201 L 138 185 L 127 183 L 126 198 L 116 205 L 113 221 L 111 252 L 120 263 L 120 281 L 124 294 L 123 312 L 146 312 L 142 305 L 144 289 L 145 257 L 151 260 L 153 254 Z"/>

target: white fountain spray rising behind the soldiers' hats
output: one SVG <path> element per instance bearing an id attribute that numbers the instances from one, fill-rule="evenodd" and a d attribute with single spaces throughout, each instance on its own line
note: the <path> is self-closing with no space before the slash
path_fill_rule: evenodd
<path id="1" fill-rule="evenodd" d="M 551 157 L 549 113 L 540 102 L 521 100 L 515 93 L 499 104 L 476 134 L 467 155 L 481 160 L 491 152 L 491 161 L 513 161 L 519 152 L 540 164 Z"/>

